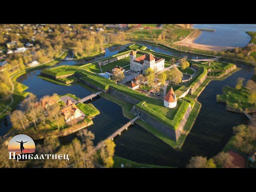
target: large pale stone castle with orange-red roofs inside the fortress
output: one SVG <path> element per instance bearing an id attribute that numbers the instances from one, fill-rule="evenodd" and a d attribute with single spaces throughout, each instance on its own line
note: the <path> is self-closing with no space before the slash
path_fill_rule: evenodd
<path id="1" fill-rule="evenodd" d="M 163 70 L 164 58 L 156 57 L 151 53 L 136 58 L 136 52 L 132 50 L 130 53 L 130 69 L 144 74 L 147 68 L 152 68 L 156 72 Z"/>

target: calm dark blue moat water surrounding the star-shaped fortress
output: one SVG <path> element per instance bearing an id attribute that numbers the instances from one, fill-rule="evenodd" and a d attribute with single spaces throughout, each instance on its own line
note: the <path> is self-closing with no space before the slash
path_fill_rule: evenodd
<path id="1" fill-rule="evenodd" d="M 121 46 L 119 50 L 125 46 Z M 154 46 L 147 47 L 157 52 L 161 52 L 162 49 Z M 106 56 L 112 55 L 113 52 L 118 52 L 116 48 L 113 52 L 111 51 L 109 48 L 108 52 L 106 51 Z M 166 53 L 165 51 L 162 52 Z M 65 61 L 60 62 L 58 65 L 62 64 L 73 65 L 76 62 Z M 201 155 L 210 158 L 216 155 L 232 136 L 232 127 L 248 122 L 243 114 L 228 112 L 224 104 L 216 102 L 216 94 L 222 92 L 223 86 L 235 86 L 238 77 L 248 80 L 252 76 L 252 68 L 244 65 L 241 65 L 241 67 L 242 69 L 240 71 L 232 74 L 223 81 L 211 81 L 204 89 L 198 98 L 198 101 L 202 104 L 202 108 L 181 150 L 174 150 L 162 140 L 144 130 L 141 126 L 134 124 L 128 128 L 128 131 L 123 132 L 121 136 L 115 138 L 115 155 L 135 162 L 174 167 L 185 167 L 191 156 Z M 18 82 L 29 86 L 26 91 L 32 92 L 38 98 L 44 95 L 52 95 L 53 93 L 71 93 L 81 98 L 91 94 L 89 90 L 82 86 L 61 86 L 38 78 L 38 74 L 40 74 L 40 70 L 35 70 L 17 79 Z M 94 125 L 88 128 L 95 134 L 94 144 L 105 139 L 129 121 L 122 115 L 122 108 L 113 102 L 104 98 L 98 98 L 93 100 L 92 104 L 100 111 L 100 115 L 93 119 Z M 8 117 L 0 123 L 0 135 L 4 135 L 11 126 Z M 76 134 L 73 134 L 61 138 L 61 142 L 66 144 L 75 136 Z"/>

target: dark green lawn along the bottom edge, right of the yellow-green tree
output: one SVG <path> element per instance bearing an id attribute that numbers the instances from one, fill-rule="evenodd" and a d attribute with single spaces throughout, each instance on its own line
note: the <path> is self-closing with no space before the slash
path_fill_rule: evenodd
<path id="1" fill-rule="evenodd" d="M 114 156 L 114 166 L 113 168 L 121 168 L 121 164 L 124 165 L 124 168 L 172 168 L 169 166 L 159 166 L 159 165 L 150 165 L 137 163 L 122 157 Z"/>

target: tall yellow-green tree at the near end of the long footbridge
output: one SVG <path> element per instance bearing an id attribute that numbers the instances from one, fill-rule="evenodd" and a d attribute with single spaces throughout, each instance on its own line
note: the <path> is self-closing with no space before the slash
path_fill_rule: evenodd
<path id="1" fill-rule="evenodd" d="M 105 146 L 101 148 L 100 156 L 102 158 L 102 162 L 106 168 L 111 168 L 114 165 L 114 148 L 116 144 L 112 140 L 106 140 Z"/>

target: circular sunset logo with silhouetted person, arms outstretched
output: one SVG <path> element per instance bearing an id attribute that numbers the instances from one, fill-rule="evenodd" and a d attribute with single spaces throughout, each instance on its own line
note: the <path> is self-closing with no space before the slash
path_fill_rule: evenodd
<path id="1" fill-rule="evenodd" d="M 36 146 L 32 138 L 24 134 L 14 136 L 8 144 L 8 152 L 12 152 L 12 154 L 15 156 L 13 158 L 15 159 L 17 159 L 17 155 L 19 154 L 34 154 L 35 150 Z M 27 159 L 21 159 L 20 161 L 22 160 Z"/>

